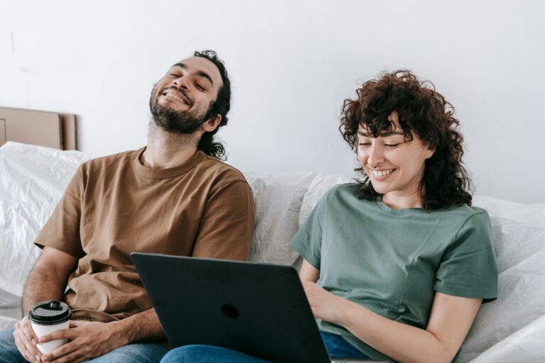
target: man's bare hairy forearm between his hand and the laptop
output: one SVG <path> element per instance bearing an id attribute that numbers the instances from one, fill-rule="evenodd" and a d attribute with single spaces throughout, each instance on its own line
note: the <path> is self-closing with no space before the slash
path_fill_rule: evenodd
<path id="1" fill-rule="evenodd" d="M 165 339 L 163 326 L 154 308 L 111 324 L 114 325 L 122 345 Z"/>

